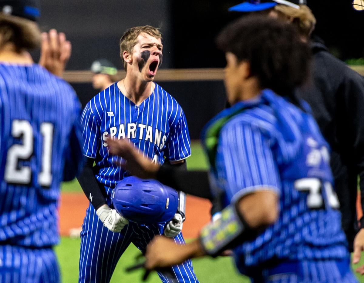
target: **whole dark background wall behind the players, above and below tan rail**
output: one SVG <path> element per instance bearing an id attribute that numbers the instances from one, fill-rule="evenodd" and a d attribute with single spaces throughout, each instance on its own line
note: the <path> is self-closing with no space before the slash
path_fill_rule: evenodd
<path id="1" fill-rule="evenodd" d="M 41 0 L 40 26 L 56 28 L 72 42 L 69 70 L 89 69 L 93 60 L 107 58 L 119 69 L 119 39 L 130 27 L 150 24 L 163 33 L 162 68 L 220 68 L 224 55 L 214 38 L 224 25 L 241 17 L 227 9 L 241 0 Z M 364 56 L 364 12 L 354 11 L 352 0 L 308 0 L 317 17 L 315 34 L 340 59 Z M 33 52 L 37 60 L 39 51 Z M 223 109 L 222 81 L 161 82 L 182 105 L 191 138 Z M 90 83 L 73 84 L 82 104 L 97 91 Z"/>

